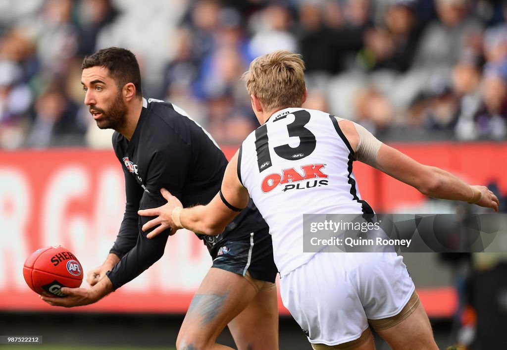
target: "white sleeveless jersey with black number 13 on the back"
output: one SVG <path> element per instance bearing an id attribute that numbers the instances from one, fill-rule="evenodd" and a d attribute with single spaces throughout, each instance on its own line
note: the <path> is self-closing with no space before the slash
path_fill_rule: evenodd
<path id="1" fill-rule="evenodd" d="M 238 177 L 269 225 L 281 275 L 308 262 L 303 214 L 373 213 L 352 173 L 338 121 L 303 108 L 276 112 L 241 145 Z"/>

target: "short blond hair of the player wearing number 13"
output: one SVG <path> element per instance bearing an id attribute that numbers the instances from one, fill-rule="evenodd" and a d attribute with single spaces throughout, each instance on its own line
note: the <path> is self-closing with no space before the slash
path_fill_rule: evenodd
<path id="1" fill-rule="evenodd" d="M 278 50 L 257 57 L 241 79 L 249 95 L 255 95 L 266 111 L 301 107 L 306 91 L 305 63 L 301 55 Z"/>

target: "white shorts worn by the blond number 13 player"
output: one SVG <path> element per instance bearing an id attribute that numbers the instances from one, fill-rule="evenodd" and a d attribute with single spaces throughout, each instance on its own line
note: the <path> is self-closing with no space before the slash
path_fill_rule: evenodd
<path id="1" fill-rule="evenodd" d="M 311 343 L 359 338 L 368 319 L 400 313 L 414 283 L 396 253 L 317 253 L 280 278 L 283 305 Z"/>

